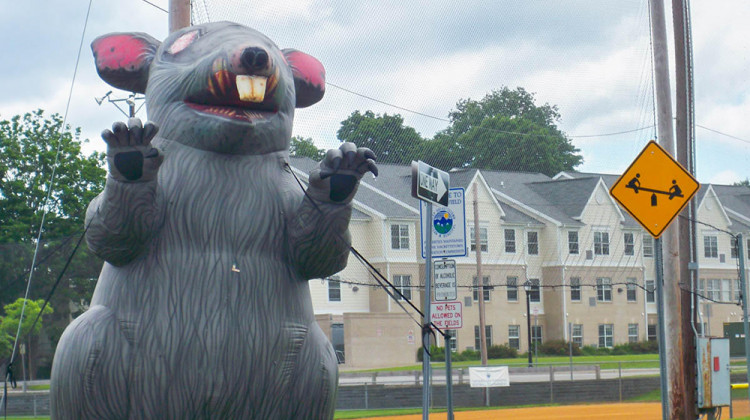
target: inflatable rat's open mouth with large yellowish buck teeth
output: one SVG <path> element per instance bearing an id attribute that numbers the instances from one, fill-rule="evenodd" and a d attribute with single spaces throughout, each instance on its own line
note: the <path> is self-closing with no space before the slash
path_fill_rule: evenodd
<path id="1" fill-rule="evenodd" d="M 206 89 L 185 100 L 191 109 L 247 122 L 264 120 L 278 112 L 278 69 L 270 76 L 234 74 L 226 70 L 224 60 L 217 59 L 213 70 Z"/>

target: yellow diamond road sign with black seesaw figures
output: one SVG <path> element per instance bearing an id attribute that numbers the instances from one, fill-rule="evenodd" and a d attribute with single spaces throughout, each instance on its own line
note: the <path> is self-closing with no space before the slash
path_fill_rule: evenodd
<path id="1" fill-rule="evenodd" d="M 658 238 L 699 188 L 698 181 L 652 140 L 609 192 Z"/>

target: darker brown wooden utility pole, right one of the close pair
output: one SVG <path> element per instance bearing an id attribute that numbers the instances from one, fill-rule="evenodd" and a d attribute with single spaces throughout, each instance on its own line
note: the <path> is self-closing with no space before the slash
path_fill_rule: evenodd
<path id="1" fill-rule="evenodd" d="M 672 0 L 672 20 L 674 22 L 675 43 L 675 124 L 677 161 L 695 177 L 695 149 L 693 119 L 693 48 L 690 28 L 689 0 Z M 697 355 L 695 346 L 695 312 L 698 308 L 697 295 L 693 292 L 697 281 L 697 245 L 695 200 L 690 200 L 687 208 L 677 220 L 680 242 L 680 283 L 682 290 L 682 343 L 684 372 L 683 410 L 685 418 L 697 418 Z"/>

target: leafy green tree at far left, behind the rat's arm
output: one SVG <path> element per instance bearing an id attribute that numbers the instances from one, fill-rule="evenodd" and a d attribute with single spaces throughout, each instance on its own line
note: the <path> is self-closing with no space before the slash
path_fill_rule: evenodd
<path id="1" fill-rule="evenodd" d="M 29 297 L 47 297 L 83 234 L 86 207 L 104 187 L 106 170 L 104 154 L 84 154 L 79 137 L 80 129 L 63 129 L 59 115 L 46 117 L 41 110 L 0 120 L 0 305 L 25 293 L 58 145 Z M 82 244 L 52 298 L 60 310 L 50 317 L 44 341 L 49 341 L 47 334 L 53 345 L 57 341 L 69 322 L 70 302 L 90 301 L 101 266 Z"/>

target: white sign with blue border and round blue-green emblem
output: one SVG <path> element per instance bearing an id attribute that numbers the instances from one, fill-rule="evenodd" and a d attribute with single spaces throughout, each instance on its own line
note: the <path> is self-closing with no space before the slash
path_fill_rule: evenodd
<path id="1" fill-rule="evenodd" d="M 432 226 L 432 258 L 465 257 L 466 250 L 466 205 L 463 188 L 451 188 L 448 206 L 432 206 L 432 214 L 427 215 L 427 206 L 420 202 L 421 225 L 429 217 Z M 427 258 L 425 249 L 425 229 L 421 231 L 422 258 Z"/>

